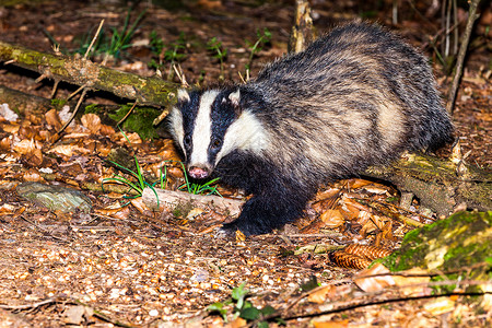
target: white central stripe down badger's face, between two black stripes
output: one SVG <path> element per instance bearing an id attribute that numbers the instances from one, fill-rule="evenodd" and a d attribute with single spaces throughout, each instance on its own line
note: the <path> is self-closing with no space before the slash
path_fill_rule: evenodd
<path id="1" fill-rule="evenodd" d="M 213 101 L 215 101 L 219 91 L 210 90 L 203 92 L 198 107 L 197 118 L 195 119 L 192 149 L 189 159 L 189 165 L 208 164 L 209 166 L 209 144 L 212 138 L 212 120 L 210 113 Z"/>

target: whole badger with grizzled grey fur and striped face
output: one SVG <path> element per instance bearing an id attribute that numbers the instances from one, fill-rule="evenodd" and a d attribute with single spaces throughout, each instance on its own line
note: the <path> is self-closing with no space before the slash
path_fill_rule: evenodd
<path id="1" fill-rule="evenodd" d="M 167 121 L 189 176 L 251 195 L 222 232 L 265 234 L 300 218 L 320 184 L 453 141 L 435 84 L 400 37 L 349 23 L 245 84 L 179 90 Z"/>

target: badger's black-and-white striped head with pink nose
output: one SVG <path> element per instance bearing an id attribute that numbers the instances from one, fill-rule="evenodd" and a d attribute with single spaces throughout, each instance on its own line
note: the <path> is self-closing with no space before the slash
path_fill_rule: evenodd
<path id="1" fill-rule="evenodd" d="M 259 154 L 266 148 L 265 127 L 245 106 L 239 87 L 178 91 L 169 130 L 191 177 L 208 177 L 235 150 Z"/>

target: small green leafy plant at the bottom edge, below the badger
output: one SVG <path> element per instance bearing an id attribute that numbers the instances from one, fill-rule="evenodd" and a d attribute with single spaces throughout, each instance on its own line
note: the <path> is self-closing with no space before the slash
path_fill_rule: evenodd
<path id="1" fill-rule="evenodd" d="M 249 291 L 245 289 L 246 283 L 242 283 L 239 286 L 234 288 L 231 293 L 231 298 L 224 302 L 216 302 L 207 307 L 207 311 L 211 313 L 219 313 L 224 321 L 227 321 L 227 305 L 233 304 L 233 319 L 241 317 L 245 320 L 259 320 L 258 327 L 268 327 L 268 323 L 262 320 L 265 316 L 269 316 L 276 312 L 270 305 L 263 308 L 255 307 L 251 302 L 247 301 Z"/>

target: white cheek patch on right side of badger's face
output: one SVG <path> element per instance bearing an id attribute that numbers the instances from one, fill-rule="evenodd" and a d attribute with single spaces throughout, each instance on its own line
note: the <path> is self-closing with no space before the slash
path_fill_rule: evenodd
<path id="1" fill-rule="evenodd" d="M 239 117 L 227 128 L 222 149 L 215 157 L 219 161 L 234 150 L 261 153 L 268 145 L 268 133 L 261 121 L 248 110 L 244 110 Z"/>

